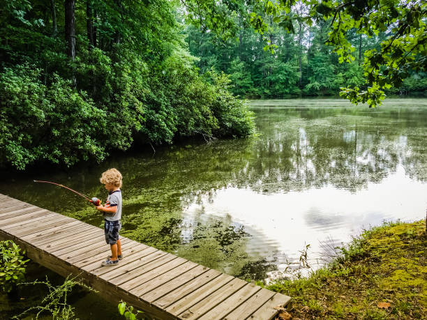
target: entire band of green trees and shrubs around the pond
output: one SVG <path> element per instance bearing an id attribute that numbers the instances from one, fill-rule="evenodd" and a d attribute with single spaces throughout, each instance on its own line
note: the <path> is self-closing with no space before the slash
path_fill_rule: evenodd
<path id="1" fill-rule="evenodd" d="M 0 18 L 2 168 L 247 137 L 241 98 L 427 86 L 423 1 L 6 0 Z"/>

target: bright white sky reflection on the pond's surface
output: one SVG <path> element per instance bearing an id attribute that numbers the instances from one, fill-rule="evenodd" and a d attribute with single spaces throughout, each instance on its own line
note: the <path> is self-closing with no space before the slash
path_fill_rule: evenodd
<path id="1" fill-rule="evenodd" d="M 256 230 L 247 246 L 260 257 L 274 257 L 284 268 L 286 259 L 298 259 L 307 243 L 313 262 L 324 253 L 321 243 L 334 247 L 350 241 L 362 227 L 381 224 L 382 220 L 423 218 L 426 195 L 427 185 L 413 181 L 400 166 L 381 183 L 369 182 L 359 192 L 333 185 L 274 194 L 223 188 L 213 201 L 205 197 L 199 204 L 190 204 L 184 213 L 197 216 L 195 212 L 202 207 L 204 216 L 231 217 Z"/>

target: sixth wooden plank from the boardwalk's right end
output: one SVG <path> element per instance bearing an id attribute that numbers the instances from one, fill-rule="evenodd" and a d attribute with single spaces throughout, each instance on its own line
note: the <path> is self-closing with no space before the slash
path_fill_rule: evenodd
<path id="1" fill-rule="evenodd" d="M 210 269 L 199 277 L 195 277 L 195 279 L 190 280 L 186 284 L 183 284 L 181 287 L 170 291 L 166 295 L 163 295 L 160 298 L 157 298 L 156 300 L 153 300 L 153 304 L 157 305 L 162 309 L 168 307 L 173 303 L 176 303 L 178 300 L 180 300 L 187 294 L 190 294 L 193 291 L 203 287 L 204 284 L 211 282 L 213 279 L 216 279 L 216 277 L 219 277 L 220 275 L 221 273 L 219 271 Z M 228 281 L 230 281 L 231 279 L 232 277 L 230 277 Z"/>

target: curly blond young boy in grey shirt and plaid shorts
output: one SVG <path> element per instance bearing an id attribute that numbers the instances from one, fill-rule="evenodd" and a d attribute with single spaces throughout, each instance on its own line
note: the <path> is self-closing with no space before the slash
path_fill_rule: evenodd
<path id="1" fill-rule="evenodd" d="M 122 176 L 117 169 L 108 169 L 100 177 L 100 182 L 105 185 L 108 190 L 108 197 L 105 206 L 97 206 L 96 209 L 103 211 L 105 220 L 104 232 L 105 241 L 111 247 L 111 256 L 103 261 L 103 266 L 116 266 L 119 260 L 123 257 L 121 255 L 121 243 L 119 239 L 119 231 L 121 229 L 121 179 Z"/>

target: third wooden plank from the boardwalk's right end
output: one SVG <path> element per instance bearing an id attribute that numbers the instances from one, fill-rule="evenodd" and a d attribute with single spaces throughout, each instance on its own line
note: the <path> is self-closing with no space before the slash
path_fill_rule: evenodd
<path id="1" fill-rule="evenodd" d="M 213 307 L 209 312 L 205 313 L 200 320 L 209 320 L 209 319 L 224 319 L 224 317 L 232 312 L 234 309 L 239 307 L 244 303 L 248 298 L 254 296 L 257 291 L 260 291 L 261 287 L 255 286 L 254 284 L 246 284 L 239 291 L 236 291 L 232 296 L 229 296 L 219 305 Z M 207 298 L 209 299 L 209 297 Z M 209 301 L 202 300 L 200 303 L 209 303 Z M 241 318 L 240 318 L 241 319 Z"/>

